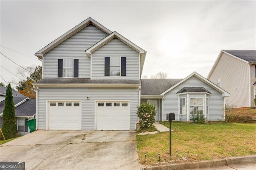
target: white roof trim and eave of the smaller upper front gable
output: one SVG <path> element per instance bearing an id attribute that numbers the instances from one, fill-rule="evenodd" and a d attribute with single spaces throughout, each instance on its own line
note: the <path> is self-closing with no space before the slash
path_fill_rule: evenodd
<path id="1" fill-rule="evenodd" d="M 96 51 L 97 49 L 102 47 L 104 44 L 106 44 L 110 40 L 112 40 L 113 38 L 118 38 L 120 41 L 122 41 L 123 43 L 130 46 L 132 49 L 138 51 L 138 53 L 140 53 L 140 75 L 142 75 L 142 69 L 143 69 L 147 51 L 145 51 L 144 49 L 142 49 L 135 43 L 131 42 L 130 40 L 128 40 L 127 38 L 125 38 L 124 36 L 119 34 L 118 32 L 115 32 L 115 31 L 112 32 L 111 34 L 109 34 L 108 36 L 106 36 L 105 38 L 103 38 L 102 40 L 97 42 L 96 44 L 92 45 L 92 47 L 86 49 L 85 53 L 88 55 L 88 57 L 91 57 L 93 51 Z"/>

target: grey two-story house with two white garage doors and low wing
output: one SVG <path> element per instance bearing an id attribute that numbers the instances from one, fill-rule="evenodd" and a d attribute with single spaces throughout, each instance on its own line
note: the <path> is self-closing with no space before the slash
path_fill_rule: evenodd
<path id="1" fill-rule="evenodd" d="M 210 111 L 217 114 L 213 107 L 219 109 L 216 117 L 224 113 L 220 107 L 224 106 L 222 95 L 226 92 L 197 73 L 193 78 L 194 75 L 201 78 L 196 79 L 196 84 L 185 86 L 190 82 L 188 79 L 173 90 L 172 87 L 183 80 L 164 85 L 158 79 L 154 87 L 150 84 L 150 88 L 163 89 L 159 94 L 142 93 L 144 87 L 147 88 L 144 80 L 140 80 L 146 51 L 92 18 L 81 22 L 35 55 L 42 60 L 42 79 L 34 83 L 38 108 L 36 128 L 39 130 L 134 130 L 141 95 L 150 95 L 143 96 L 142 102 L 145 99 L 157 102 L 157 120 L 165 120 L 164 114 L 172 111 L 177 111 L 178 120 L 181 117 L 178 115 L 178 97 L 184 94 L 193 97 L 190 93 L 196 93 L 193 100 L 199 100 L 200 108 L 202 100 L 205 103 L 208 97 L 213 103 L 209 106 L 209 114 Z M 184 91 L 176 94 L 181 89 Z M 171 97 L 173 93 L 174 97 Z M 189 106 L 185 105 L 186 108 Z M 190 107 L 194 111 L 199 108 L 197 105 Z M 205 113 L 206 104 L 202 107 Z"/>

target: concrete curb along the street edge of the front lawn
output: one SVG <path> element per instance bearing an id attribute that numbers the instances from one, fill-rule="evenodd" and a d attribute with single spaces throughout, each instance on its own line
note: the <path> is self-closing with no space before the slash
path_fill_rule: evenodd
<path id="1" fill-rule="evenodd" d="M 195 168 L 209 168 L 216 166 L 228 166 L 231 164 L 242 163 L 254 163 L 256 162 L 256 155 L 250 156 L 238 156 L 231 158 L 223 158 L 219 160 L 204 160 L 199 162 L 188 162 L 180 164 L 168 164 L 162 166 L 148 166 L 142 168 L 142 170 L 183 170 L 183 169 L 195 169 Z"/>

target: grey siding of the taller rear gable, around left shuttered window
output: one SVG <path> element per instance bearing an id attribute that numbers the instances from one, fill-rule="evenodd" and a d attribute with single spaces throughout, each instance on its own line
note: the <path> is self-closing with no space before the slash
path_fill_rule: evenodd
<path id="1" fill-rule="evenodd" d="M 90 57 L 84 51 L 106 36 L 96 26 L 89 25 L 54 47 L 43 57 L 44 78 L 58 77 L 58 59 L 61 58 L 79 59 L 78 77 L 90 78 Z"/>

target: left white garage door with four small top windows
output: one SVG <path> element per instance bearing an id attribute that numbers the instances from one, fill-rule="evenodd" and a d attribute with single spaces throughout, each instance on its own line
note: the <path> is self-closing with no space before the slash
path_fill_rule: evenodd
<path id="1" fill-rule="evenodd" d="M 48 102 L 49 130 L 80 130 L 80 101 L 50 101 Z"/>

